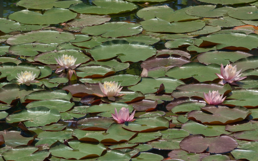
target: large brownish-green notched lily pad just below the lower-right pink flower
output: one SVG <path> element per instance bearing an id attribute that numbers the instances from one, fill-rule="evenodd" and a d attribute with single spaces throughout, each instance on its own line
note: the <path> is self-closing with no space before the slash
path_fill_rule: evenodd
<path id="1" fill-rule="evenodd" d="M 189 112 L 187 115 L 188 119 L 206 124 L 228 124 L 242 121 L 251 114 L 249 109 L 242 106 L 227 107 L 223 105 L 210 105 L 201 109 L 202 111 L 193 110 Z"/>

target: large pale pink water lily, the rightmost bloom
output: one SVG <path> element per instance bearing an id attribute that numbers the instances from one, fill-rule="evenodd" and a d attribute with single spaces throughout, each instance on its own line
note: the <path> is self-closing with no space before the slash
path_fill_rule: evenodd
<path id="1" fill-rule="evenodd" d="M 242 69 L 241 69 L 242 70 Z M 231 64 L 227 64 L 225 69 L 223 67 L 223 65 L 221 64 L 220 67 L 220 74 L 215 73 L 219 78 L 221 78 L 222 80 L 219 82 L 220 84 L 225 84 L 225 83 L 230 83 L 230 84 L 234 84 L 237 85 L 234 81 L 239 81 L 242 79 L 245 79 L 246 77 L 240 77 L 241 74 L 239 74 L 241 72 L 241 70 L 239 70 L 237 72 L 237 67 L 236 65 L 234 67 L 232 67 Z"/>

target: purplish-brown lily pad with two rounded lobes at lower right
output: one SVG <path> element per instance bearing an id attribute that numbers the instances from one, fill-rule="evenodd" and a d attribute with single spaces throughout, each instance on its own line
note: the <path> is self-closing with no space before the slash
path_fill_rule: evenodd
<path id="1" fill-rule="evenodd" d="M 238 143 L 235 138 L 226 134 L 209 138 L 205 138 L 201 134 L 195 134 L 185 137 L 179 146 L 181 149 L 190 152 L 224 153 L 235 149 Z"/>

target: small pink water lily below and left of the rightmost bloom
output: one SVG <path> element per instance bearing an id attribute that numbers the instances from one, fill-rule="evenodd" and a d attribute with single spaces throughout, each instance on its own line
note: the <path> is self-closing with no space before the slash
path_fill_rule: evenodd
<path id="1" fill-rule="evenodd" d="M 220 96 L 220 93 L 219 91 L 209 91 L 208 94 L 205 94 L 203 92 L 203 95 L 204 95 L 204 100 L 207 104 L 210 104 L 210 105 L 218 105 L 218 104 L 221 104 L 226 97 L 222 98 L 223 95 Z"/>

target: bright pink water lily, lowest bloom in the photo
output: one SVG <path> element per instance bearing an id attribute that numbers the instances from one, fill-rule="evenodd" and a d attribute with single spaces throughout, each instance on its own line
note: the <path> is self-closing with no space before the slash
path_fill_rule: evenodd
<path id="1" fill-rule="evenodd" d="M 111 114 L 112 117 L 117 121 L 117 123 L 124 123 L 125 121 L 134 121 L 136 119 L 133 119 L 134 113 L 136 110 L 133 111 L 133 113 L 129 116 L 129 109 L 122 107 L 119 110 L 119 113 L 117 113 L 117 110 L 115 108 L 115 114 Z"/>

